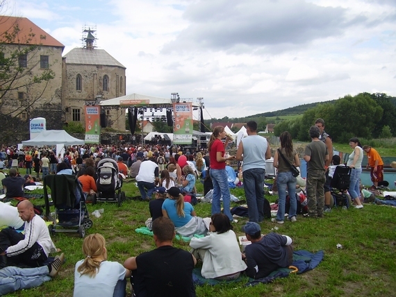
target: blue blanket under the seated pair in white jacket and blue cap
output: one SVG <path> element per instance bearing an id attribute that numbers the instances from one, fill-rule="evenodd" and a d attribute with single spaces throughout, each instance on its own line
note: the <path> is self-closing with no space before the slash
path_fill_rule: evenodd
<path id="1" fill-rule="evenodd" d="M 324 253 L 323 251 L 318 251 L 317 253 L 313 254 L 308 251 L 295 251 L 293 253 L 293 263 L 292 266 L 295 266 L 298 268 L 297 274 L 304 273 L 306 271 L 310 271 L 314 269 L 320 262 L 323 260 Z M 247 282 L 247 286 L 255 286 L 260 283 L 267 284 L 269 282 L 273 282 L 277 278 L 286 278 L 286 276 L 290 275 L 290 272 L 292 269 L 288 268 L 279 268 L 275 271 L 273 271 L 270 275 L 266 276 L 265 278 L 260 278 L 257 280 L 254 280 L 253 278 L 249 278 L 249 282 Z M 195 268 L 192 270 L 192 281 L 194 282 L 195 285 L 197 286 L 202 286 L 202 285 L 219 285 L 219 284 L 224 284 L 224 283 L 229 283 L 229 282 L 240 282 L 243 280 L 245 277 L 241 275 L 239 278 L 236 280 L 214 280 L 213 278 L 204 278 L 201 275 L 201 268 Z"/>

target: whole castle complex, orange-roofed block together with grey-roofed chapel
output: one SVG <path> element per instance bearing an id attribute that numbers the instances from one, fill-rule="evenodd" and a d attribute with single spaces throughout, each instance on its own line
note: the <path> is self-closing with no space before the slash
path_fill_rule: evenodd
<path id="1" fill-rule="evenodd" d="M 72 121 L 85 126 L 85 105 L 126 94 L 126 67 L 94 46 L 94 31 L 85 30 L 85 46 L 62 56 L 65 46 L 29 19 L 0 16 L 0 20 L 0 72 L 15 74 L 14 79 L 0 77 L 3 114 L 22 122 L 44 117 L 47 130 Z M 13 67 L 6 69 L 10 59 L 15 59 Z M 38 82 L 44 75 L 51 79 Z M 125 130 L 124 109 L 101 112 L 102 126 Z"/>

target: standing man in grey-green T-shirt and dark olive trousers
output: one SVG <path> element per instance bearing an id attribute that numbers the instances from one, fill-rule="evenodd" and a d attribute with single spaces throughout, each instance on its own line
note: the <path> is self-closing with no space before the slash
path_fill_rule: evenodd
<path id="1" fill-rule="evenodd" d="M 304 160 L 307 162 L 306 196 L 308 200 L 308 217 L 323 217 L 324 183 L 326 175 L 324 162 L 329 160 L 327 146 L 320 141 L 320 130 L 311 126 L 309 135 L 312 142 L 305 147 Z"/>

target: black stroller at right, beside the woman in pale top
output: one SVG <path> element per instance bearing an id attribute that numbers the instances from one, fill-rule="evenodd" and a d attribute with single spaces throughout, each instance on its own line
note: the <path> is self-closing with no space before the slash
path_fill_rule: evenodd
<path id="1" fill-rule="evenodd" d="M 333 178 L 331 178 L 331 205 L 349 208 L 352 204 L 352 199 L 347 190 L 349 189 L 349 180 L 351 177 L 351 168 L 345 166 L 338 166 L 334 171 Z"/>

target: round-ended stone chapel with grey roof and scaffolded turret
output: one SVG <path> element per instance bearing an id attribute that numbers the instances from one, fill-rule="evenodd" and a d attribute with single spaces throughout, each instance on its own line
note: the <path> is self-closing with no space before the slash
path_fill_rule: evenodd
<path id="1" fill-rule="evenodd" d="M 65 121 L 80 121 L 82 124 L 85 123 L 85 105 L 124 96 L 126 86 L 126 67 L 104 49 L 95 48 L 93 30 L 85 32 L 85 46 L 72 49 L 62 61 Z M 125 130 L 125 109 L 102 110 L 102 114 L 102 119 L 106 119 L 102 126 Z"/>

